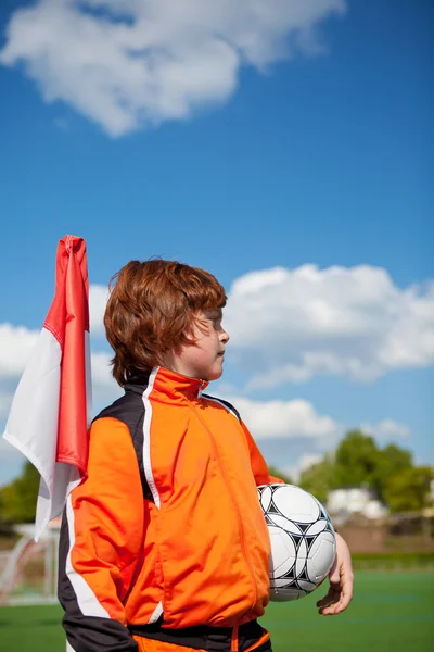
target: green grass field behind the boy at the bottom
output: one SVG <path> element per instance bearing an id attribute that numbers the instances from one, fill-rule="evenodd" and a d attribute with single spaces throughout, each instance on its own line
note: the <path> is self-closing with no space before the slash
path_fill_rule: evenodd
<path id="1" fill-rule="evenodd" d="M 317 615 L 321 588 L 298 602 L 271 604 L 263 623 L 273 652 L 431 652 L 434 650 L 434 574 L 358 573 L 347 612 Z M 59 606 L 0 610 L 1 652 L 64 652 Z"/>

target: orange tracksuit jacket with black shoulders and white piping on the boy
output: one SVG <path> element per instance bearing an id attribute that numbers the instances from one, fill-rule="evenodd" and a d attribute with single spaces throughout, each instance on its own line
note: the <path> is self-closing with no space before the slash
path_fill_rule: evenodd
<path id="1" fill-rule="evenodd" d="M 128 626 L 234 627 L 264 613 L 270 544 L 256 486 L 276 478 L 205 386 L 156 367 L 92 424 L 88 477 L 61 534 L 59 598 L 77 652 L 136 650 Z"/>

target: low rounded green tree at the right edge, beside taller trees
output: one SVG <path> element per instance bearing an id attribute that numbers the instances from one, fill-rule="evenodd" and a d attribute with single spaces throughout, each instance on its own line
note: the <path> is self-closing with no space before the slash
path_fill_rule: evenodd
<path id="1" fill-rule="evenodd" d="M 433 478 L 430 466 L 405 468 L 391 478 L 384 490 L 391 512 L 417 512 L 429 506 Z"/>

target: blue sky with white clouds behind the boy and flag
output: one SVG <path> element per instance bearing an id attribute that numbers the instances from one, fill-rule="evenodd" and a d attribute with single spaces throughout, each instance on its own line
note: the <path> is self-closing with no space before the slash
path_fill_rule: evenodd
<path id="1" fill-rule="evenodd" d="M 182 2 L 183 16 L 173 0 L 158 16 L 176 74 L 154 71 L 145 92 L 132 59 L 108 42 L 101 62 L 82 36 L 87 7 L 97 37 L 106 16 L 116 41 L 116 0 L 71 2 L 76 24 L 51 23 L 50 0 L 2 3 L 2 423 L 52 298 L 56 242 L 74 234 L 95 286 L 152 255 L 219 278 L 233 333 L 214 392 L 238 399 L 269 462 L 299 468 L 365 425 L 433 464 L 432 3 L 268 0 L 276 20 L 248 32 L 248 3 L 226 16 L 218 0 L 192 32 L 196 0 Z M 107 355 L 98 328 L 93 341 Z M 102 381 L 97 406 L 112 393 Z M 1 484 L 22 459 L 0 451 Z"/>

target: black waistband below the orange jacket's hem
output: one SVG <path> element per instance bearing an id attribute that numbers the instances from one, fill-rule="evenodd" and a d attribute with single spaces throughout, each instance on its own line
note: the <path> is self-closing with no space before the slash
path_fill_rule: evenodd
<path id="1" fill-rule="evenodd" d="M 155 625 L 128 625 L 128 629 L 136 636 L 142 636 L 165 643 L 173 643 L 193 650 L 206 650 L 206 652 L 230 652 L 232 627 L 208 627 L 207 625 L 197 625 L 196 627 L 183 627 L 180 629 L 168 629 L 161 624 Z M 240 625 L 238 630 L 238 645 L 240 652 L 251 648 L 264 636 L 264 629 L 257 620 L 251 620 Z M 267 647 L 257 649 L 255 652 L 270 650 Z"/>

